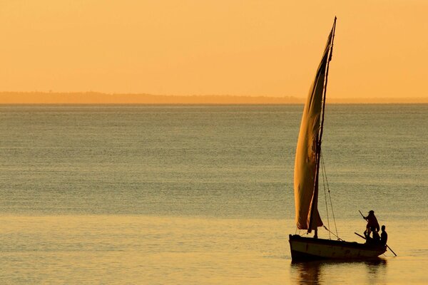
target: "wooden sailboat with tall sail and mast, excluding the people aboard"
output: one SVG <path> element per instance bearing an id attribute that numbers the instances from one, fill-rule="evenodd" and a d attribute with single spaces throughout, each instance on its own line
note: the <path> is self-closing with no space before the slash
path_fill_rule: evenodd
<path id="1" fill-rule="evenodd" d="M 345 242 L 338 237 L 337 240 L 317 237 L 318 227 L 323 227 L 317 207 L 318 185 L 320 161 L 322 159 L 321 142 L 324 127 L 325 96 L 335 39 L 336 19 L 335 17 L 320 65 L 317 68 L 315 80 L 307 96 L 295 156 L 295 222 L 297 229 L 306 229 L 307 233 L 315 231 L 315 236 L 302 237 L 298 234 L 290 234 L 292 261 L 370 259 L 379 257 L 380 254 L 386 252 L 385 245 Z"/>

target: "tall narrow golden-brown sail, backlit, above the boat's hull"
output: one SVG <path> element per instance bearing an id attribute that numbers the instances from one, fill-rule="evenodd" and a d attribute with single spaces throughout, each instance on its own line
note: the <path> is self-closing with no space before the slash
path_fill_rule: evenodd
<path id="1" fill-rule="evenodd" d="M 324 95 L 327 63 L 330 61 L 329 52 L 332 47 L 334 28 L 330 32 L 327 46 L 318 66 L 315 80 L 309 90 L 300 124 L 297 140 L 294 170 L 295 190 L 295 222 L 297 228 L 317 229 L 322 226 L 318 213 L 318 161 L 320 155 L 320 128 L 322 115 L 322 100 Z"/>

